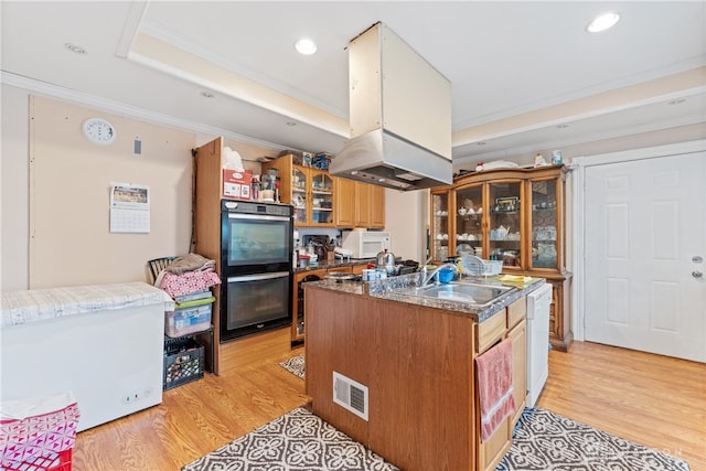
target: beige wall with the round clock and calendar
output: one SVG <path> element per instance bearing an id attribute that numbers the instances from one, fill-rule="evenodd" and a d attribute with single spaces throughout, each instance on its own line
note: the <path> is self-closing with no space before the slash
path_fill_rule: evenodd
<path id="1" fill-rule="evenodd" d="M 146 279 L 146 261 L 185 254 L 191 240 L 191 149 L 196 135 L 2 85 L 0 289 Z M 87 141 L 88 117 L 117 128 L 110 146 Z M 133 152 L 135 140 L 141 153 Z M 246 169 L 279 151 L 234 140 Z M 111 182 L 151 190 L 149 234 L 109 232 Z"/>

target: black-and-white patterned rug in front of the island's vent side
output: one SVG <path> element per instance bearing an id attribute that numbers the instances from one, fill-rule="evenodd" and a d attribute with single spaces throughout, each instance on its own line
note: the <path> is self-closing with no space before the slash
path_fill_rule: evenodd
<path id="1" fill-rule="evenodd" d="M 182 471 L 399 471 L 304 408 L 193 461 Z"/>

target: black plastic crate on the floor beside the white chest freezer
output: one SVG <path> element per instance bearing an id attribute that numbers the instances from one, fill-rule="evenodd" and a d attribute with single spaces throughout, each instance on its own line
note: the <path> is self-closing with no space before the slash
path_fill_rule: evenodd
<path id="1" fill-rule="evenodd" d="M 191 338 L 164 341 L 163 390 L 201 379 L 203 370 L 204 347 L 199 342 Z"/>

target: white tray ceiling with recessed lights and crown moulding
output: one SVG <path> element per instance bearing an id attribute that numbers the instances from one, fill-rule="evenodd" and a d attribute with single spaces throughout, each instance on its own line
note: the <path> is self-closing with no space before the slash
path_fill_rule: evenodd
<path id="1" fill-rule="evenodd" d="M 349 137 L 346 45 L 382 21 L 451 82 L 454 168 L 470 169 L 538 146 L 704 124 L 705 6 L 3 0 L 2 82 L 335 154 Z M 621 21 L 588 34 L 606 11 Z M 295 51 L 302 36 L 314 55 Z"/>

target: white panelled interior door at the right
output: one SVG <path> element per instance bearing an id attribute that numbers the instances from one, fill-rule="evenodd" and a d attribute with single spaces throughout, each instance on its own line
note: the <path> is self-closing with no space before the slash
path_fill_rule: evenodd
<path id="1" fill-rule="evenodd" d="M 586 169 L 586 340 L 706 362 L 705 161 Z"/>

